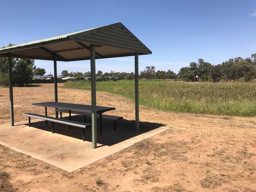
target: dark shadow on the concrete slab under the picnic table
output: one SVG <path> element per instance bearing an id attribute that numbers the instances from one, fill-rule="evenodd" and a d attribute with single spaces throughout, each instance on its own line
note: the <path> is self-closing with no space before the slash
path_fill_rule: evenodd
<path id="1" fill-rule="evenodd" d="M 68 117 L 64 117 L 68 119 Z M 71 117 L 73 121 L 84 122 L 84 117 L 80 115 L 75 115 Z M 87 117 L 87 123 L 91 123 L 91 118 Z M 28 124 L 26 124 L 28 125 Z M 31 126 L 37 129 L 42 129 L 51 132 L 52 123 L 48 122 L 45 124 L 45 121 L 38 121 L 31 123 Z M 109 119 L 102 119 L 102 136 L 100 136 L 100 121 L 97 119 L 97 143 L 102 145 L 114 145 L 120 143 L 124 140 L 127 140 L 131 137 L 141 135 L 145 132 L 149 132 L 153 129 L 162 127 L 163 124 L 151 123 L 151 122 L 140 122 L 140 132 L 135 132 L 135 123 L 134 121 L 122 120 L 116 121 L 116 131 L 114 131 L 114 121 Z M 56 134 L 66 135 L 68 137 L 73 137 L 81 139 L 82 141 L 82 128 L 71 127 L 69 129 L 68 125 L 55 123 L 54 131 Z M 85 130 L 85 140 L 92 142 L 92 129 L 91 127 Z"/>

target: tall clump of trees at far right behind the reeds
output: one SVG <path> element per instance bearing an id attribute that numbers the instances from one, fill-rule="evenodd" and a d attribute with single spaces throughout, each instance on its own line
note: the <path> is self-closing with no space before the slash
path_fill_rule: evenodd
<path id="1" fill-rule="evenodd" d="M 222 64 L 212 65 L 199 59 L 191 62 L 189 67 L 183 67 L 178 77 L 183 81 L 252 81 L 256 79 L 256 53 L 243 59 L 236 57 Z"/>

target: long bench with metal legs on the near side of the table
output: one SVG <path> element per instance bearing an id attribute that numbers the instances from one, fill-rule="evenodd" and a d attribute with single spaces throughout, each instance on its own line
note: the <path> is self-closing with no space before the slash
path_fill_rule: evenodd
<path id="1" fill-rule="evenodd" d="M 43 119 L 46 121 L 51 121 L 52 122 L 52 133 L 54 133 L 54 123 L 60 123 L 60 124 L 65 124 L 69 126 L 74 126 L 74 127 L 81 127 L 83 128 L 83 141 L 85 140 L 85 128 L 91 127 L 92 125 L 89 123 L 84 123 L 84 122 L 78 122 L 78 121 L 71 121 L 68 119 L 58 119 L 55 117 L 50 117 L 50 116 L 45 116 L 45 115 L 38 115 L 35 113 L 23 113 L 22 115 L 28 117 L 28 126 L 31 126 L 31 121 L 30 118 L 34 117 L 37 119 Z"/>

